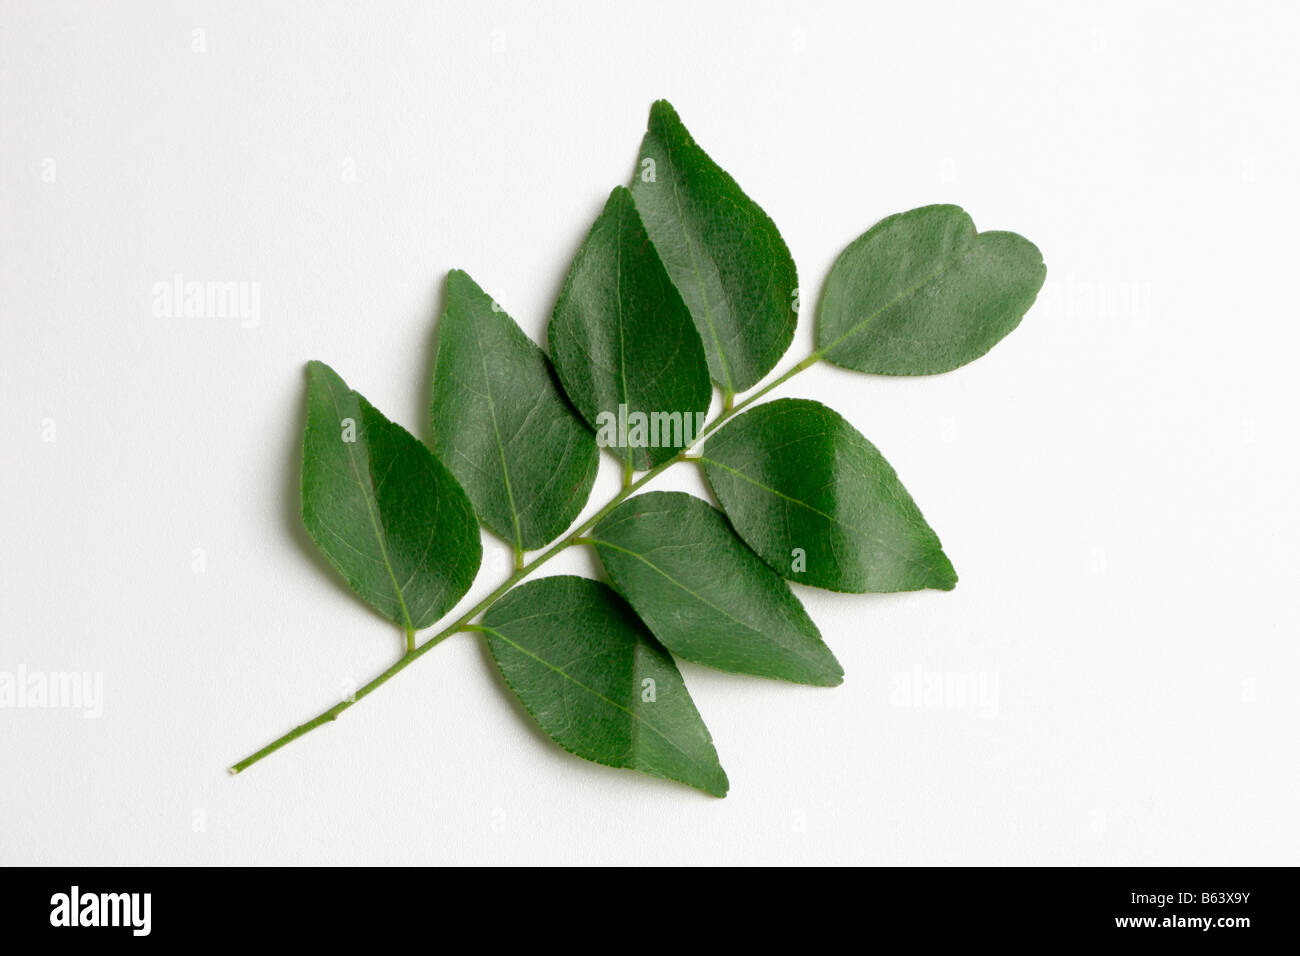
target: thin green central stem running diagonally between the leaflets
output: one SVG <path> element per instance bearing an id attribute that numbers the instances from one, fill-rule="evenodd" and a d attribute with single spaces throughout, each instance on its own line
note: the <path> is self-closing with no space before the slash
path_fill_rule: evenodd
<path id="1" fill-rule="evenodd" d="M 789 371 L 786 371 L 784 375 L 774 378 L 771 382 L 768 382 L 767 385 L 764 385 L 763 388 L 760 388 L 758 392 L 755 392 L 754 394 L 751 394 L 744 402 L 740 402 L 738 405 L 733 405 L 729 408 L 724 408 L 718 415 L 718 418 L 714 419 L 705 428 L 705 431 L 701 432 L 696 437 L 696 441 L 698 442 L 699 440 L 702 440 L 706 436 L 711 434 L 724 421 L 727 421 L 727 419 L 732 418 L 733 415 L 740 414 L 749 405 L 751 405 L 753 402 L 755 402 L 759 398 L 762 398 L 763 395 L 766 395 L 768 392 L 771 392 L 772 389 L 775 389 L 777 385 L 781 385 L 781 384 L 789 381 L 790 378 L 793 378 L 796 375 L 798 375 L 800 372 L 802 372 L 809 365 L 815 364 L 820 358 L 822 356 L 820 356 L 819 352 L 812 352 L 809 358 L 803 359 L 803 362 L 798 363 L 797 365 L 794 365 L 793 368 L 790 368 Z M 257 761 L 263 760 L 264 757 L 269 757 L 270 754 L 273 754 L 276 750 L 278 750 L 285 744 L 291 743 L 291 741 L 296 740 L 298 737 L 303 736 L 304 734 L 308 734 L 308 732 L 316 730 L 321 724 L 330 723 L 332 721 L 338 719 L 338 715 L 342 714 L 344 710 L 347 710 L 350 706 L 352 706 L 354 704 L 356 704 L 363 697 L 369 696 L 372 691 L 374 691 L 381 684 L 386 683 L 389 680 L 389 678 L 393 678 L 398 672 L 406 670 L 410 665 L 415 663 L 419 658 L 424 657 L 428 652 L 433 650 L 433 648 L 436 648 L 438 644 L 441 644 L 447 637 L 450 637 L 451 635 L 454 635 L 456 631 L 481 631 L 482 628 L 480 628 L 480 627 L 469 623 L 472 618 L 476 618 L 477 615 L 482 614 L 485 610 L 488 610 L 489 607 L 491 607 L 507 591 L 510 591 L 511 588 L 514 588 L 516 584 L 519 584 L 521 580 L 524 580 L 528 575 L 530 575 L 534 570 L 537 570 L 538 567 L 541 567 L 542 564 L 545 564 L 547 561 L 550 561 L 551 558 L 554 558 L 556 554 L 559 554 L 560 551 L 563 551 L 566 548 L 572 548 L 573 545 L 577 545 L 577 544 L 588 544 L 590 541 L 590 538 L 584 537 L 584 536 L 586 535 L 586 532 L 589 532 L 592 528 L 594 528 L 597 524 L 599 524 L 601 520 L 606 515 L 608 515 L 611 511 L 614 511 L 614 509 L 616 509 L 619 505 L 621 505 L 624 501 L 627 501 L 633 493 L 636 493 L 637 490 L 640 490 L 645 484 L 647 484 L 649 481 L 651 481 L 655 477 L 658 477 L 662 472 L 667 471 L 668 468 L 671 468 L 677 462 L 685 462 L 685 460 L 696 460 L 696 459 L 688 457 L 686 455 L 686 449 L 682 449 L 679 454 L 673 455 L 672 458 L 670 458 L 666 462 L 660 462 L 654 468 L 651 468 L 650 471 L 647 471 L 645 475 L 642 475 L 641 477 L 638 477 L 636 481 L 630 480 L 630 466 L 628 468 L 625 468 L 625 471 L 624 471 L 624 486 L 623 486 L 623 490 L 619 492 L 618 494 L 615 494 L 614 498 L 611 498 L 610 502 L 604 507 L 602 507 L 594 515 L 592 515 L 590 518 L 588 518 L 585 522 L 582 522 L 582 524 L 580 524 L 577 528 L 575 528 L 568 535 L 566 535 L 564 537 L 562 537 L 559 541 L 556 541 L 554 545 L 551 545 L 547 550 L 542 551 L 536 558 L 533 558 L 532 561 L 529 561 L 526 564 L 521 564 L 521 566 L 519 564 L 519 558 L 521 555 L 519 555 L 516 553 L 516 570 L 515 570 L 515 572 L 510 578 L 507 578 L 500 584 L 499 588 L 497 588 L 494 592 L 491 592 L 488 597 L 485 597 L 482 601 L 480 601 L 478 604 L 476 604 L 468 611 L 465 611 L 464 614 L 462 614 L 451 624 L 448 624 L 442 631 L 439 631 L 438 633 L 436 633 L 433 637 L 430 637 L 429 640 L 426 640 L 424 644 L 416 645 L 416 643 L 415 643 L 415 631 L 407 630 L 407 652 L 406 652 L 406 654 L 403 654 L 402 657 L 399 657 L 386 671 L 384 671 L 377 678 L 374 678 L 373 680 L 370 680 L 370 683 L 368 683 L 365 687 L 363 687 L 361 689 L 359 689 L 350 698 L 339 701 L 338 704 L 335 704 L 334 706 L 332 706 L 329 710 L 325 710 L 324 713 L 317 714 L 316 717 L 313 717 L 311 721 L 307 721 L 306 723 L 298 724 L 291 731 L 289 731 L 287 734 L 285 734 L 281 737 L 277 737 L 272 743 L 266 744 L 264 748 L 261 748 L 256 753 L 248 754 L 242 761 L 239 761 L 238 763 L 235 763 L 234 766 L 231 766 L 230 767 L 230 773 L 231 774 L 242 773 L 242 771 L 247 770 L 248 767 L 251 767 Z"/>

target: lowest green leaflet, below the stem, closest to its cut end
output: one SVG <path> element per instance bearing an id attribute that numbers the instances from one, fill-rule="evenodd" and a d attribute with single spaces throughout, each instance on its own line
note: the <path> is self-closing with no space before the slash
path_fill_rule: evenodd
<path id="1" fill-rule="evenodd" d="M 725 796 L 681 674 L 610 588 L 569 576 L 521 584 L 478 630 L 506 683 L 566 750 Z"/>

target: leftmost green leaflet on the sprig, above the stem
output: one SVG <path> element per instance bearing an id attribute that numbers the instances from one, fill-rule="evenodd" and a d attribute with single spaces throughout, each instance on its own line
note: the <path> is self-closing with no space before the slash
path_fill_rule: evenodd
<path id="1" fill-rule="evenodd" d="M 429 449 L 312 362 L 303 433 L 303 524 L 380 614 L 433 624 L 482 559 L 469 498 Z"/>

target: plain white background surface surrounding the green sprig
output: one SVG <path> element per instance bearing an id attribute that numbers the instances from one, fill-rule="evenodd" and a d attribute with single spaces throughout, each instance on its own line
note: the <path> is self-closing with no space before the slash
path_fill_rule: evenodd
<path id="1" fill-rule="evenodd" d="M 1287 3 L 6 0 L 0 670 L 101 672 L 104 714 L 0 710 L 0 862 L 1296 864 L 1297 30 Z M 801 589 L 837 689 L 684 667 L 725 800 L 563 753 L 471 635 L 229 777 L 399 649 L 300 529 L 304 363 L 426 437 L 447 269 L 545 341 L 656 98 L 807 303 L 915 206 L 1041 247 L 978 363 L 777 393 L 880 446 L 957 591 Z M 177 273 L 259 282 L 260 324 L 156 317 Z"/>

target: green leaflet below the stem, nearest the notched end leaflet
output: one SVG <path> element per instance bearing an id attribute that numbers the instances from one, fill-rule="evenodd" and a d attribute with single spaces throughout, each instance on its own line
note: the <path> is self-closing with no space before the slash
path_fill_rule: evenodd
<path id="1" fill-rule="evenodd" d="M 819 402 L 733 419 L 701 463 L 736 531 L 784 578 L 831 591 L 918 591 L 957 572 L 876 447 Z"/>

